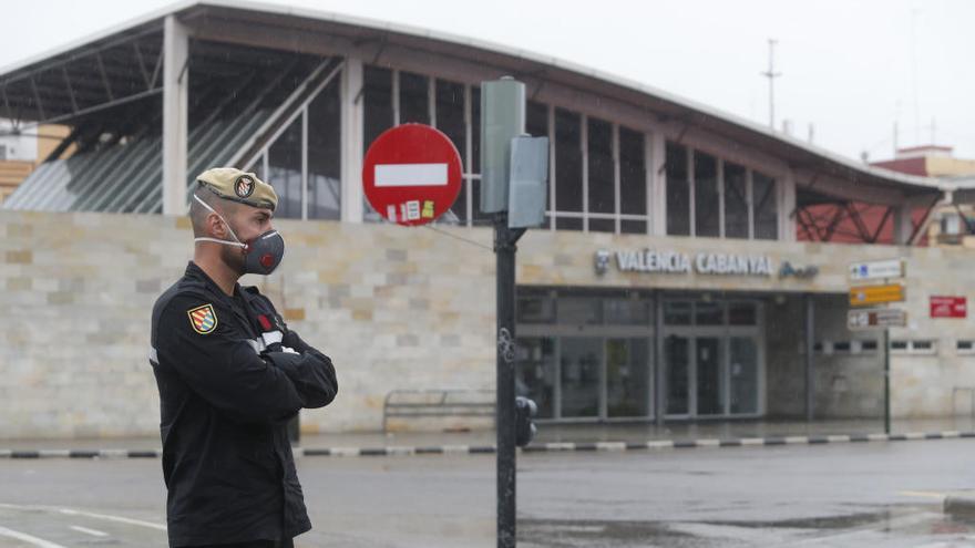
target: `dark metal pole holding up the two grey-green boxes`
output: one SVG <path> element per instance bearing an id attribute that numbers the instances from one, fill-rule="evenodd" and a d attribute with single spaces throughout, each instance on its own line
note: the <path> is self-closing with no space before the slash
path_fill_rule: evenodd
<path id="1" fill-rule="evenodd" d="M 497 548 L 515 546 L 515 242 L 524 229 L 509 229 L 505 211 L 494 216 L 497 261 Z"/>

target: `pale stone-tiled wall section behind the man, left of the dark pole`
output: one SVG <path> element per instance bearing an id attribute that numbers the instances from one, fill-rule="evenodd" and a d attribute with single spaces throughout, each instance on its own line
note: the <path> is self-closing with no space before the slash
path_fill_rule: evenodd
<path id="1" fill-rule="evenodd" d="M 286 258 L 247 276 L 330 355 L 339 395 L 305 432 L 378 430 L 391 390 L 494 385 L 490 232 L 277 220 Z M 155 435 L 150 314 L 192 257 L 187 219 L 0 211 L 0 437 Z"/>

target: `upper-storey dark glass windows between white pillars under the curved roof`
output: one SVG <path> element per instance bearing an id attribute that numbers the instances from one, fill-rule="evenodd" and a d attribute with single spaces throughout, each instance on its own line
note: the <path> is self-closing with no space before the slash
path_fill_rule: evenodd
<path id="1" fill-rule="evenodd" d="M 401 123 L 433 124 L 454 144 L 463 165 L 458 199 L 439 223 L 490 225 L 480 211 L 480 89 L 433 76 L 365 65 L 363 152 Z M 249 162 L 283 199 L 279 216 L 341 218 L 341 102 L 338 80 L 302 106 Z M 614 234 L 650 234 L 648 135 L 598 117 L 528 101 L 526 132 L 548 136 L 550 227 Z M 684 144 L 666 142 L 664 229 L 670 236 L 778 239 L 774 178 Z M 304 193 L 302 193 L 304 185 Z M 381 217 L 362 198 L 363 219 Z"/>

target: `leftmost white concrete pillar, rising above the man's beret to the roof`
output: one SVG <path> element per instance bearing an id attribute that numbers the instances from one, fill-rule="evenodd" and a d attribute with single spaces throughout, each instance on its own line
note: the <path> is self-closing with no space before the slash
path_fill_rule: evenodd
<path id="1" fill-rule="evenodd" d="M 175 15 L 163 31 L 163 214 L 186 213 L 189 34 Z"/>

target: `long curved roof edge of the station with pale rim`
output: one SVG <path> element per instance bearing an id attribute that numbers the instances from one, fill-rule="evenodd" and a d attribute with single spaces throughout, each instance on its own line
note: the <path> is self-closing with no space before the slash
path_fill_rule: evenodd
<path id="1" fill-rule="evenodd" d="M 53 73 L 54 71 L 51 69 L 54 65 L 82 58 L 93 49 L 95 51 L 100 49 L 105 50 L 120 39 L 125 39 L 126 37 L 161 32 L 163 19 L 170 14 L 178 15 L 182 21 L 187 22 L 191 27 L 194 22 L 215 25 L 219 21 L 220 24 L 229 27 L 233 27 L 234 23 L 238 25 L 256 24 L 263 28 L 288 31 L 283 33 L 285 38 L 281 40 L 287 41 L 289 35 L 296 37 L 291 39 L 295 48 L 300 46 L 299 42 L 302 32 L 326 32 L 348 39 L 352 43 L 369 41 L 383 44 L 392 43 L 450 58 L 472 60 L 478 63 L 496 66 L 499 70 L 509 71 L 516 77 L 520 75 L 538 77 L 542 74 L 545 81 L 553 81 L 577 90 L 609 96 L 642 108 L 645 112 L 653 113 L 661 120 L 680 121 L 733 142 L 760 147 L 769 154 L 782 158 L 793 167 L 809 168 L 810 170 L 824 173 L 856 184 L 866 184 L 880 188 L 897 188 L 905 196 L 933 195 L 943 189 L 951 188 L 951 185 L 934 178 L 871 167 L 709 105 L 677 96 L 640 82 L 607 74 L 556 58 L 404 24 L 304 8 L 237 0 L 192 0 L 176 3 L 116 28 L 72 42 L 54 51 L 37 55 L 13 66 L 0 69 L 0 91 L 6 90 L 9 96 L 11 95 L 9 92 L 19 85 L 21 90 L 20 95 L 23 100 L 19 105 L 21 112 L 28 111 L 28 114 L 34 114 L 34 118 L 31 120 L 37 120 L 41 117 L 38 116 L 41 113 L 37 112 L 37 108 L 34 112 L 30 112 L 30 104 L 37 103 L 38 101 L 34 101 L 33 97 L 43 97 L 43 93 L 47 93 L 47 91 L 39 95 L 37 89 L 28 87 L 28 82 L 30 82 L 30 85 L 38 85 L 31 75 L 40 74 L 44 71 Z M 124 54 L 124 52 L 115 52 L 115 54 Z M 134 63 L 136 60 L 132 59 L 131 61 Z M 99 62 L 101 63 L 101 61 Z M 142 63 L 143 60 L 138 60 L 138 62 Z M 105 70 L 102 69 L 102 72 L 104 73 Z M 55 86 L 63 87 L 63 84 L 52 83 Z M 109 84 L 105 85 L 109 86 Z M 54 90 L 50 93 L 52 96 L 55 95 Z M 13 107 L 9 103 L 4 106 L 2 99 L 0 97 L 0 117 L 11 117 Z M 63 101 L 66 100 L 62 97 Z M 63 110 L 65 114 L 62 120 L 70 118 L 70 108 L 64 105 Z M 74 110 L 75 112 L 78 111 L 76 105 Z"/>

